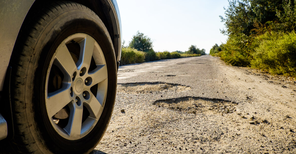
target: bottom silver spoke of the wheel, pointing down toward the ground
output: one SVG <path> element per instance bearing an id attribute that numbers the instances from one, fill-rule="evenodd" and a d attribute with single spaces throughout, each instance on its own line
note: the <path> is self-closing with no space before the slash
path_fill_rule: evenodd
<path id="1" fill-rule="evenodd" d="M 80 139 L 81 134 L 81 124 L 83 115 L 83 106 L 78 106 L 76 103 L 72 103 L 70 107 L 71 113 L 69 118 L 69 123 L 65 129 L 70 130 L 70 138 L 73 140 Z"/>

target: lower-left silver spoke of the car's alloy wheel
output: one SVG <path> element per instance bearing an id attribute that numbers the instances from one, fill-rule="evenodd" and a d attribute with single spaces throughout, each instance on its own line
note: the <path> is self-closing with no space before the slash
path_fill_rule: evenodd
<path id="1" fill-rule="evenodd" d="M 71 102 L 73 98 L 70 97 L 70 88 L 60 89 L 53 93 L 48 93 L 45 100 L 47 114 L 49 118 L 54 116 L 59 110 Z"/>

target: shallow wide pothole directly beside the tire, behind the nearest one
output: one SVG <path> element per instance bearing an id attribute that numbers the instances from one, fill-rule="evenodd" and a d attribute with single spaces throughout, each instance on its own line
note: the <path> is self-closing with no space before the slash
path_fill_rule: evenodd
<path id="1" fill-rule="evenodd" d="M 176 91 L 181 92 L 190 90 L 191 87 L 173 83 L 164 82 L 137 82 L 137 83 L 122 83 L 118 84 L 117 90 L 124 93 L 154 93 L 160 91 Z"/>

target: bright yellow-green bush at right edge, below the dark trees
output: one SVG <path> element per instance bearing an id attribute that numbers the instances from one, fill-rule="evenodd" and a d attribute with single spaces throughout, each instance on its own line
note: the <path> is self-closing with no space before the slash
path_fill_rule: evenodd
<path id="1" fill-rule="evenodd" d="M 265 33 L 256 38 L 259 43 L 251 61 L 253 68 L 268 70 L 271 74 L 296 76 L 296 34 Z"/>

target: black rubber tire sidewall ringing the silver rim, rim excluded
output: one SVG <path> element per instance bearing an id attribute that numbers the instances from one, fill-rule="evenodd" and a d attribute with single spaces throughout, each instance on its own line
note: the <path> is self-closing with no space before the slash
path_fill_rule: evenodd
<path id="1" fill-rule="evenodd" d="M 55 50 L 68 36 L 86 33 L 102 48 L 108 71 L 105 106 L 96 126 L 85 137 L 71 141 L 61 137 L 52 127 L 45 106 L 45 82 Z M 103 22 L 93 12 L 70 10 L 51 20 L 40 33 L 28 66 L 25 104 L 28 123 L 36 145 L 46 153 L 89 153 L 102 139 L 109 124 L 115 102 L 117 73 L 114 48 Z M 33 93 L 30 93 L 33 92 Z M 46 142 L 45 142 L 46 141 Z M 50 149 L 50 150 L 49 150 Z"/>

